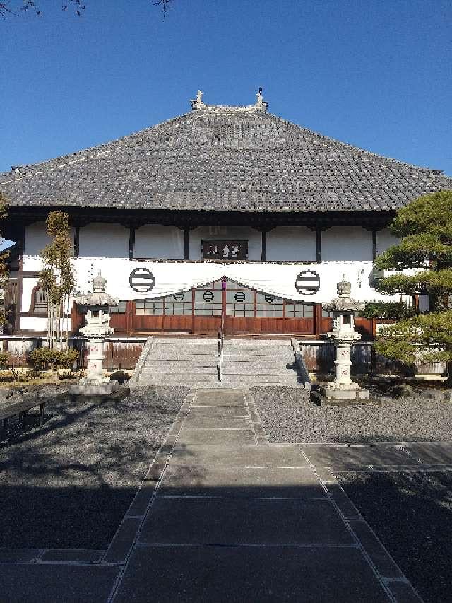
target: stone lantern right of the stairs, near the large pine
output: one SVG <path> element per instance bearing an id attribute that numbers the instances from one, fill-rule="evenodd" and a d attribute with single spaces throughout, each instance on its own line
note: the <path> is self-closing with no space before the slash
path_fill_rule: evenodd
<path id="1" fill-rule="evenodd" d="M 328 382 L 326 387 L 321 387 L 320 391 L 331 401 L 368 399 L 369 390 L 359 387 L 350 377 L 352 345 L 361 339 L 361 335 L 355 331 L 355 312 L 363 310 L 365 304 L 351 298 L 352 286 L 345 280 L 345 274 L 338 283 L 337 291 L 337 298 L 322 304 L 324 310 L 333 313 L 333 330 L 327 333 L 326 337 L 335 345 L 335 379 Z"/>

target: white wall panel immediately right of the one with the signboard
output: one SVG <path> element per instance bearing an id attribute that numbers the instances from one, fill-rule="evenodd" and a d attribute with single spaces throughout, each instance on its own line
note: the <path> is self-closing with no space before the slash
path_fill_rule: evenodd
<path id="1" fill-rule="evenodd" d="M 267 233 L 268 262 L 315 262 L 316 233 L 305 226 L 278 226 Z"/>

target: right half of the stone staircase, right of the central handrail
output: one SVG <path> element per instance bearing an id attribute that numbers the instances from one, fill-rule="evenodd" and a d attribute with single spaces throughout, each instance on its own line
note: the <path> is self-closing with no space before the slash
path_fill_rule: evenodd
<path id="1" fill-rule="evenodd" d="M 229 385 L 302 384 L 290 339 L 226 339 L 219 366 Z"/>

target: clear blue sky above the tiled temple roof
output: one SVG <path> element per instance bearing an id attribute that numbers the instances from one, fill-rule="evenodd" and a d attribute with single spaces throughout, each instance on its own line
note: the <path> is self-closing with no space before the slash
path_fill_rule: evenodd
<path id="1" fill-rule="evenodd" d="M 16 0 L 11 0 L 16 1 Z M 0 21 L 0 171 L 254 103 L 452 175 L 450 0 L 61 0 Z"/>

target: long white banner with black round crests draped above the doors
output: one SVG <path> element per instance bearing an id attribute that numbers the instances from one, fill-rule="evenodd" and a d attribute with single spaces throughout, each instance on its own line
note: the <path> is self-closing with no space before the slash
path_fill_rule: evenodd
<path id="1" fill-rule="evenodd" d="M 208 285 L 223 277 L 246 288 L 278 298 L 326 302 L 336 295 L 336 284 L 352 283 L 358 300 L 386 299 L 369 283 L 372 262 L 322 262 L 321 264 L 267 264 L 213 262 L 138 262 L 128 259 L 74 259 L 78 291 L 91 290 L 99 269 L 107 279 L 107 292 L 119 300 L 161 298 Z"/>

